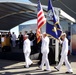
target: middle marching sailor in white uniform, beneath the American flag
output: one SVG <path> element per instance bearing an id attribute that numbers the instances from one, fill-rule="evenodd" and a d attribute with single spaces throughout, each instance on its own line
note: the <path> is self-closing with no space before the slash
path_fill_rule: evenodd
<path id="1" fill-rule="evenodd" d="M 41 46 L 41 53 L 42 53 L 42 62 L 40 65 L 40 69 L 43 68 L 44 64 L 46 65 L 47 71 L 51 71 L 49 60 L 48 60 L 48 53 L 49 53 L 49 38 L 47 34 L 44 32 L 42 35 L 42 46 Z"/>

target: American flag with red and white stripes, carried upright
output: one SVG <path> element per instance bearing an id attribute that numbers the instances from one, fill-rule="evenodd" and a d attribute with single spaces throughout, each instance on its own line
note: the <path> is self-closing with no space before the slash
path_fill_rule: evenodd
<path id="1" fill-rule="evenodd" d="M 40 42 L 41 27 L 46 23 L 43 9 L 40 0 L 38 0 L 38 13 L 37 13 L 37 43 Z"/>

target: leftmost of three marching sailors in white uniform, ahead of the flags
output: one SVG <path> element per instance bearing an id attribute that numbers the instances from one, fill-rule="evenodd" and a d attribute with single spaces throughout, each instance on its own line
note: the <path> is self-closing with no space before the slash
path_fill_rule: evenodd
<path id="1" fill-rule="evenodd" d="M 26 68 L 28 68 L 31 64 L 33 64 L 33 62 L 30 59 L 31 47 L 28 35 L 24 36 L 23 52 L 25 56 Z"/>

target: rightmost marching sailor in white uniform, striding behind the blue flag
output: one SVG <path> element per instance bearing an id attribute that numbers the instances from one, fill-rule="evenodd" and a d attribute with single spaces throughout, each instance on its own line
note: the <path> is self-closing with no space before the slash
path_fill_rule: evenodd
<path id="1" fill-rule="evenodd" d="M 71 68 L 71 65 L 69 64 L 68 57 L 67 57 L 67 54 L 68 54 L 68 39 L 66 38 L 66 33 L 62 33 L 61 38 L 62 38 L 62 41 L 60 40 L 60 43 L 62 43 L 61 59 L 60 59 L 60 62 L 58 64 L 58 66 L 56 66 L 54 68 L 57 71 L 59 71 L 63 62 L 65 62 L 65 65 L 67 67 L 67 72 L 66 73 L 72 74 L 73 70 Z"/>

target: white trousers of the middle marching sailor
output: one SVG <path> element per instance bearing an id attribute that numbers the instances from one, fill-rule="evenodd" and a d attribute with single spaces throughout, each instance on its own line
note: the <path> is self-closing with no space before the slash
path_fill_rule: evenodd
<path id="1" fill-rule="evenodd" d="M 49 65 L 49 60 L 48 60 L 48 53 L 46 53 L 46 52 L 42 53 L 42 62 L 41 62 L 41 65 L 40 65 L 41 69 L 44 66 L 44 64 L 46 65 L 46 70 L 50 70 L 50 65 Z"/>

